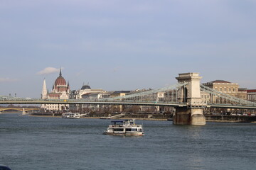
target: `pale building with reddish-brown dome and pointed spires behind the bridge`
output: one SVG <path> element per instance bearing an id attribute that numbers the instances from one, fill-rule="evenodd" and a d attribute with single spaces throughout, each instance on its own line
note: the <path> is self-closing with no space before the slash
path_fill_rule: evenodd
<path id="1" fill-rule="evenodd" d="M 42 91 L 42 98 L 43 99 L 68 99 L 70 97 L 70 86 L 69 83 L 65 81 L 62 77 L 61 69 L 60 75 L 55 80 L 53 84 L 53 89 L 50 93 L 46 90 L 46 79 L 43 81 L 43 91 Z M 69 106 L 64 104 L 46 104 L 42 105 L 45 111 L 63 111 L 66 110 Z"/>

